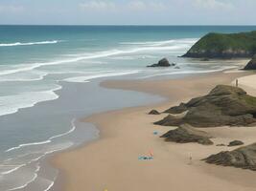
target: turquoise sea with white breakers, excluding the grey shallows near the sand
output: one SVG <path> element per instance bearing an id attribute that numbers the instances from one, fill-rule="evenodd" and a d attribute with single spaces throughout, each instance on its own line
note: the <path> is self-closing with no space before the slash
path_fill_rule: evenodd
<path id="1" fill-rule="evenodd" d="M 252 30 L 256 27 L 0 26 L 0 102 L 5 102 L 0 115 L 58 98 L 53 93 L 61 88 L 57 81 L 204 70 L 176 56 L 206 32 Z M 145 68 L 163 56 L 180 62 L 182 69 Z M 219 68 L 213 65 L 210 70 Z M 50 74 L 54 80 L 47 77 Z"/>

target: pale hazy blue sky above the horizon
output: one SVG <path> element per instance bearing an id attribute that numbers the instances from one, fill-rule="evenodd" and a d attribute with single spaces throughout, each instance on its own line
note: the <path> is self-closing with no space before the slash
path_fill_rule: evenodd
<path id="1" fill-rule="evenodd" d="M 0 24 L 256 25 L 256 0 L 0 0 Z"/>

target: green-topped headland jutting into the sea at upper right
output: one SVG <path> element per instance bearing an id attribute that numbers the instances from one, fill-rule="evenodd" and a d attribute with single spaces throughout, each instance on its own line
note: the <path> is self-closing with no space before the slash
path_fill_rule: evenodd
<path id="1" fill-rule="evenodd" d="M 256 53 L 256 32 L 208 33 L 183 56 L 194 58 L 251 57 Z"/>

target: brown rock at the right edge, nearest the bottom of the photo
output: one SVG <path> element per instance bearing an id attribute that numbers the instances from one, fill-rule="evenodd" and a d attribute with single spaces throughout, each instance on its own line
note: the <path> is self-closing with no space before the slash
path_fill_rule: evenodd
<path id="1" fill-rule="evenodd" d="M 256 170 L 256 143 L 234 151 L 224 151 L 203 159 L 208 163 Z"/>

